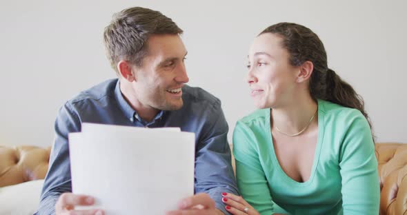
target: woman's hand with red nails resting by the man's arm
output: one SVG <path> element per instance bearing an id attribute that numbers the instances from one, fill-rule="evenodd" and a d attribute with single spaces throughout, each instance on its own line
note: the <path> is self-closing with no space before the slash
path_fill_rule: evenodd
<path id="1" fill-rule="evenodd" d="M 236 196 L 230 193 L 222 193 L 222 201 L 226 204 L 226 210 L 230 214 L 235 215 L 260 215 L 249 203 L 247 203 L 241 196 Z"/>

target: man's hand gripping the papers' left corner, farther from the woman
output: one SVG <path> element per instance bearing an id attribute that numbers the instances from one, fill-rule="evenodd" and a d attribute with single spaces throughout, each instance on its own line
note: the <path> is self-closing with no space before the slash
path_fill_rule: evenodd
<path id="1" fill-rule="evenodd" d="M 58 215 L 103 215 L 104 212 L 100 209 L 75 210 L 75 206 L 93 205 L 95 199 L 91 196 L 75 195 L 72 193 L 64 193 L 59 196 L 57 204 L 55 204 L 55 214 Z"/>

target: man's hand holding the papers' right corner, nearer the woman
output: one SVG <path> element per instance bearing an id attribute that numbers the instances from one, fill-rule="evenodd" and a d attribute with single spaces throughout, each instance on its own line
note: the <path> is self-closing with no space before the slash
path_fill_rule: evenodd
<path id="1" fill-rule="evenodd" d="M 178 203 L 178 210 L 167 212 L 166 215 L 224 215 L 215 207 L 215 201 L 208 194 L 196 194 L 184 198 Z"/>

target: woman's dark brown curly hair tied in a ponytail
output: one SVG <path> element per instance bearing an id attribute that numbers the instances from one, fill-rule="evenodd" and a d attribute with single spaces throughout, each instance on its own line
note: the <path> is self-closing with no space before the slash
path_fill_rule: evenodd
<path id="1" fill-rule="evenodd" d="M 370 129 L 373 130 L 362 97 L 335 71 L 328 68 L 324 44 L 317 34 L 296 23 L 277 23 L 266 28 L 260 34 L 266 33 L 277 34 L 282 37 L 281 45 L 288 50 L 291 65 L 299 66 L 305 61 L 313 63 L 314 70 L 310 76 L 309 85 L 312 99 L 323 99 L 359 110 L 368 121 Z M 372 136 L 374 141 L 373 132 Z"/>

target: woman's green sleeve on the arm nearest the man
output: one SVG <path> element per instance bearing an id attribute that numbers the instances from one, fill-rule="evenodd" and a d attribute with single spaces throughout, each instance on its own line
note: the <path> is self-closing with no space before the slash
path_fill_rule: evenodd
<path id="1" fill-rule="evenodd" d="M 272 201 L 266 174 L 259 161 L 259 148 L 254 143 L 256 139 L 247 125 L 237 122 L 233 132 L 237 187 L 241 196 L 260 214 L 288 214 Z"/>

